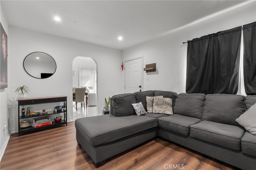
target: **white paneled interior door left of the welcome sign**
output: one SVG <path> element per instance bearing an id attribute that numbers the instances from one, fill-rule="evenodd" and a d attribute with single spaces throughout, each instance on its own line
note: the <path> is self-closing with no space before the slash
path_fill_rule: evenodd
<path id="1" fill-rule="evenodd" d="M 139 92 L 142 86 L 142 58 L 124 62 L 125 92 Z"/>

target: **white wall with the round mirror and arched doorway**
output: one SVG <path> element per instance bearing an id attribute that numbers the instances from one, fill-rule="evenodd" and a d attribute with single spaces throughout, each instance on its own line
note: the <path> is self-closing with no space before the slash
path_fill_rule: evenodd
<path id="1" fill-rule="evenodd" d="M 122 76 L 121 51 L 11 26 L 9 33 L 8 97 L 11 132 L 18 131 L 17 96 L 12 88 L 23 84 L 30 87 L 27 98 L 68 96 L 68 120 L 73 119 L 72 62 L 77 56 L 91 57 L 97 63 L 98 114 L 102 114 L 106 96 L 122 92 L 122 82 L 119 81 Z M 34 51 L 48 53 L 56 61 L 56 72 L 49 78 L 33 78 L 24 71 L 23 60 Z"/>

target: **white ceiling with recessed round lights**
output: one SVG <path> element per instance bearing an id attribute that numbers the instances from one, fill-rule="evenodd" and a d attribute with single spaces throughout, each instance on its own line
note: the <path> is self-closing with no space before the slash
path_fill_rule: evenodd
<path id="1" fill-rule="evenodd" d="M 8 24 L 123 50 L 242 0 L 1 0 Z M 54 21 L 54 16 L 61 18 Z M 118 36 L 123 40 L 119 41 Z"/>

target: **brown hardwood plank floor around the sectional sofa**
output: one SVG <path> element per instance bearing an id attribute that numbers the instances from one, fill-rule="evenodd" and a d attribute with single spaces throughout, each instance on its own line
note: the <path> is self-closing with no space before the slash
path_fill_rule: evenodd
<path id="1" fill-rule="evenodd" d="M 1 170 L 230 170 L 233 167 L 169 141 L 154 139 L 107 160 L 96 168 L 90 156 L 77 145 L 74 122 L 68 126 L 30 133 L 12 134 Z"/>

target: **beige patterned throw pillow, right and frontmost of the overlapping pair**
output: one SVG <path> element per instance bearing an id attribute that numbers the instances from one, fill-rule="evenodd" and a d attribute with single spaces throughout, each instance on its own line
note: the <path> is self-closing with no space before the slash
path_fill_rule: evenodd
<path id="1" fill-rule="evenodd" d="M 162 113 L 162 114 L 167 114 L 167 115 L 173 115 L 172 99 L 164 98 L 163 96 L 154 96 L 153 113 Z"/>

